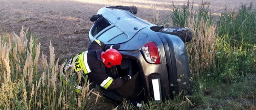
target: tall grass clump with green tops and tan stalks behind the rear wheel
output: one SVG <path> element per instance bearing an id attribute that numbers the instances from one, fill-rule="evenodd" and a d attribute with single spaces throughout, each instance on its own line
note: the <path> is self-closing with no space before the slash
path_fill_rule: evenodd
<path id="1" fill-rule="evenodd" d="M 209 6 L 194 8 L 194 2 L 188 1 L 181 6 L 172 5 L 171 11 L 171 24 L 188 27 L 193 32 L 192 41 L 186 43 L 192 76 L 200 76 L 206 70 L 215 68 L 218 37 Z"/>

